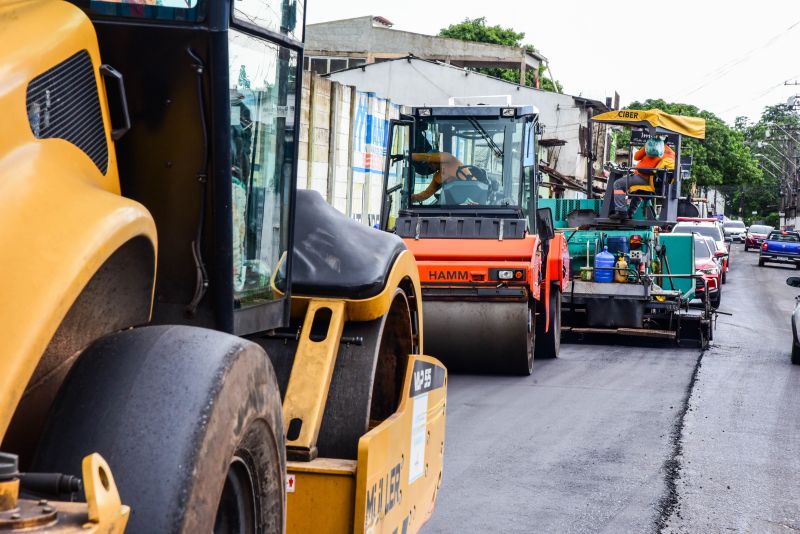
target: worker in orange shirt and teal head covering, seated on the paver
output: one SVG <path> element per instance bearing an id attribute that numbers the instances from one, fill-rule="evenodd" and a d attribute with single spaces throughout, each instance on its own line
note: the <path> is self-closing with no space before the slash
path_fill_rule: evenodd
<path id="1" fill-rule="evenodd" d="M 653 176 L 655 171 L 647 169 L 675 169 L 675 151 L 660 137 L 651 137 L 645 145 L 636 151 L 633 159 L 636 164 L 634 174 L 614 180 L 614 213 L 612 219 L 629 219 L 636 213 L 641 198 L 633 198 L 628 206 L 628 193 L 655 193 Z M 641 170 L 638 170 L 641 169 Z"/>

